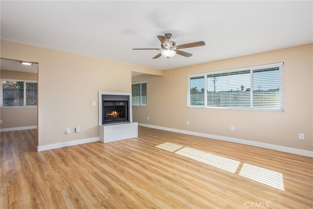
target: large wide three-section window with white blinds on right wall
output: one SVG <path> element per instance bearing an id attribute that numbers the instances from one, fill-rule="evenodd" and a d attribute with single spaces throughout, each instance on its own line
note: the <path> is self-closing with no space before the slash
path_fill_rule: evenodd
<path id="1" fill-rule="evenodd" d="M 283 63 L 188 76 L 188 107 L 284 111 Z"/>

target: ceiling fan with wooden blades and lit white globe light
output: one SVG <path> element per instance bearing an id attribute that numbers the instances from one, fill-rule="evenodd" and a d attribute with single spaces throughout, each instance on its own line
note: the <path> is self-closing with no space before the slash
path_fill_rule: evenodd
<path id="1" fill-rule="evenodd" d="M 166 33 L 165 36 L 157 36 L 157 38 L 161 42 L 161 48 L 133 48 L 133 50 L 151 50 L 152 49 L 152 50 L 161 51 L 152 59 L 159 58 L 160 56 L 163 56 L 165 58 L 172 58 L 176 54 L 179 54 L 179 55 L 184 56 L 184 57 L 190 57 L 190 56 L 192 56 L 192 54 L 185 52 L 185 51 L 181 51 L 179 49 L 205 45 L 205 43 L 203 41 L 200 41 L 200 42 L 194 42 L 194 43 L 176 46 L 176 43 L 174 41 L 170 41 L 171 37 L 172 37 L 171 33 Z"/>

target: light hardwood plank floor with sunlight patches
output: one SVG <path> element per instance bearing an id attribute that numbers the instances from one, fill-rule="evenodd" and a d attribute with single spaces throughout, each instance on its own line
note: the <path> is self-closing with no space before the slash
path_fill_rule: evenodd
<path id="1" fill-rule="evenodd" d="M 42 152 L 36 135 L 1 133 L 1 209 L 313 207 L 309 157 L 140 126 L 138 138 Z M 156 147 L 166 142 L 181 147 Z"/>

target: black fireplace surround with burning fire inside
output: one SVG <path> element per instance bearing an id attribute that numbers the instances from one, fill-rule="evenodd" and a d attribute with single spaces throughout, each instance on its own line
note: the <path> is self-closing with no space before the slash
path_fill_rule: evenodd
<path id="1" fill-rule="evenodd" d="M 102 125 L 130 122 L 129 95 L 102 95 Z"/>

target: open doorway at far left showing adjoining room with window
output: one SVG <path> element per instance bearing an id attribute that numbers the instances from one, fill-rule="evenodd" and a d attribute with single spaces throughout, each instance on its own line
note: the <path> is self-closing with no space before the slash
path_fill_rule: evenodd
<path id="1" fill-rule="evenodd" d="M 0 59 L 1 132 L 38 128 L 38 63 L 26 63 Z"/>

